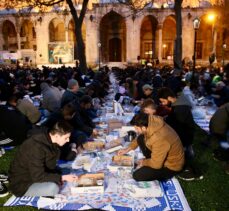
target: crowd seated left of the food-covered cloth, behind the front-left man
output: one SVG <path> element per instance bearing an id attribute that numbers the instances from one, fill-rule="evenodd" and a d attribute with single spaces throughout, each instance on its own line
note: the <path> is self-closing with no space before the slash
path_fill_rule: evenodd
<path id="1" fill-rule="evenodd" d="M 58 69 L 43 67 L 42 70 L 0 69 L 0 143 L 10 140 L 10 145 L 20 145 L 41 119 L 46 119 L 45 126 L 53 126 L 55 121 L 47 122 L 53 122 L 66 106 L 74 108 L 70 123 L 78 131 L 73 132 L 75 142 L 76 134 L 80 137 L 83 134 L 84 139 L 96 135 L 91 121 L 96 117 L 92 99 L 102 102 L 108 93 L 107 72 L 107 68 L 97 72 L 89 69 L 88 74 L 83 75 L 77 68 L 64 66 Z"/>

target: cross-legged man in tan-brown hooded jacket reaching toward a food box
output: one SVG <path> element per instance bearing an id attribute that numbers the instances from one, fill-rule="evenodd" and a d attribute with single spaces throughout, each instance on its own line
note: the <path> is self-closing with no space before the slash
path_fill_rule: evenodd
<path id="1" fill-rule="evenodd" d="M 123 155 L 140 147 L 145 159 L 138 161 L 133 178 L 137 181 L 165 180 L 178 174 L 184 165 L 184 151 L 176 132 L 161 117 L 137 114 L 131 124 L 138 139 L 118 152 Z"/>

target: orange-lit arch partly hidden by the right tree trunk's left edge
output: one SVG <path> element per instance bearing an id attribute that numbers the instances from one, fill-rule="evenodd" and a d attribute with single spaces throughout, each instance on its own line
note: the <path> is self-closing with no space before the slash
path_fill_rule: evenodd
<path id="1" fill-rule="evenodd" d="M 176 21 L 174 15 L 165 18 L 162 28 L 162 58 L 171 60 L 176 38 Z"/>

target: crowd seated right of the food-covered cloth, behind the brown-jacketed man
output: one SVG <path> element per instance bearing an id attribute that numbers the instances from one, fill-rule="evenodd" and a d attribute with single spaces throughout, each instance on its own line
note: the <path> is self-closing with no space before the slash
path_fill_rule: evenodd
<path id="1" fill-rule="evenodd" d="M 115 73 L 119 84 L 126 89 L 125 94 L 134 96 L 132 102 L 140 101 L 140 112 L 164 117 L 165 122 L 179 135 L 184 147 L 185 165 L 178 177 L 186 181 L 203 179 L 203 172 L 199 168 L 193 149 L 194 134 L 198 126 L 194 122 L 192 108 L 197 105 L 199 97 L 205 97 L 219 107 L 215 115 L 223 110 L 225 114 L 222 120 L 215 115 L 211 120 L 213 125 L 212 122 L 217 119 L 214 125 L 223 128 L 223 132 L 221 130 L 221 134 L 217 135 L 210 127 L 210 133 L 228 142 L 228 113 L 225 112 L 225 106 L 223 109 L 221 106 L 229 103 L 229 65 L 225 66 L 224 71 L 220 68 L 199 68 L 195 75 L 192 75 L 188 67 L 182 72 L 174 72 L 170 67 L 130 67 L 125 71 L 117 69 Z M 133 81 L 131 89 L 130 78 Z M 227 149 L 217 149 L 214 154 L 216 159 L 228 162 Z"/>

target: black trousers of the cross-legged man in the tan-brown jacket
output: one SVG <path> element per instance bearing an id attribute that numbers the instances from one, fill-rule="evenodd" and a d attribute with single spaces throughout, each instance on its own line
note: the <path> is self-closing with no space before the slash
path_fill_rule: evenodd
<path id="1" fill-rule="evenodd" d="M 170 179 L 179 172 L 172 171 L 168 168 L 153 169 L 148 166 L 143 166 L 133 173 L 133 178 L 136 181 L 152 181 Z"/>

